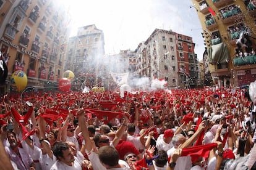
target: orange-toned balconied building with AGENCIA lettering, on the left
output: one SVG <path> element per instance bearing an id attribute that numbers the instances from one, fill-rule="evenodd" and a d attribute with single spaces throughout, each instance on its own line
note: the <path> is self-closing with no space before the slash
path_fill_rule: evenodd
<path id="1" fill-rule="evenodd" d="M 16 70 L 27 74 L 27 87 L 56 84 L 62 77 L 70 20 L 59 1 L 0 1 L 0 50 L 8 68 L 1 94 L 12 90 Z"/>

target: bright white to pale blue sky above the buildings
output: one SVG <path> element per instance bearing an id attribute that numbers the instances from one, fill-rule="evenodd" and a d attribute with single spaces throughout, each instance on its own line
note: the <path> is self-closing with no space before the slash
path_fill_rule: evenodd
<path id="1" fill-rule="evenodd" d="M 77 28 L 95 24 L 105 35 L 106 54 L 134 50 L 155 28 L 192 36 L 199 60 L 205 50 L 197 12 L 190 0 L 62 0 L 72 17 L 71 36 Z"/>

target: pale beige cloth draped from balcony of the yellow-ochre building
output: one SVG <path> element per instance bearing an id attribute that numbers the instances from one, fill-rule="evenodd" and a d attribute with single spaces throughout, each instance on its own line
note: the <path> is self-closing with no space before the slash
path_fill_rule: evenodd
<path id="1" fill-rule="evenodd" d="M 223 42 L 213 45 L 208 49 L 208 57 L 211 64 L 227 63 L 229 59 L 228 47 Z"/>

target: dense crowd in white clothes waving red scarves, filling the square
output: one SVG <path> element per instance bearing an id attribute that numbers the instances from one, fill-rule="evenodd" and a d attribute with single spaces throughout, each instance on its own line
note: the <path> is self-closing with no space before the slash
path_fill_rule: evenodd
<path id="1" fill-rule="evenodd" d="M 0 169 L 256 169 L 247 89 L 25 92 L 0 101 Z"/>

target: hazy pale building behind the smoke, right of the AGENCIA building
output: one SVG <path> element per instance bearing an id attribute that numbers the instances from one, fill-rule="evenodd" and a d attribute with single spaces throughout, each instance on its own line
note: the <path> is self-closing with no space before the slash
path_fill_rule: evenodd
<path id="1" fill-rule="evenodd" d="M 69 38 L 65 57 L 65 70 L 74 72 L 76 83 L 87 87 L 104 83 L 105 40 L 102 30 L 95 25 L 78 28 L 77 35 Z M 77 79 L 76 79 L 77 80 Z M 75 80 L 75 81 L 76 81 Z"/>

